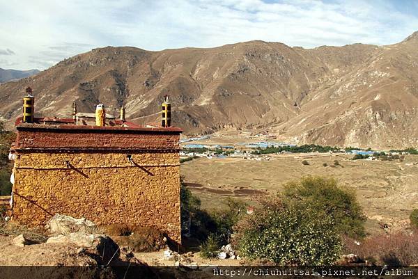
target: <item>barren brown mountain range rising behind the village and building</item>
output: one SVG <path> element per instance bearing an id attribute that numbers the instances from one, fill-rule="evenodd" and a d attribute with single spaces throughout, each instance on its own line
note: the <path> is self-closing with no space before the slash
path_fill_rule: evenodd
<path id="1" fill-rule="evenodd" d="M 304 49 L 251 41 L 212 49 L 93 49 L 33 77 L 0 85 L 0 115 L 14 120 L 26 86 L 38 115 L 69 116 L 124 104 L 142 124 L 169 95 L 187 134 L 269 129 L 296 143 L 418 145 L 418 32 L 394 45 Z"/>

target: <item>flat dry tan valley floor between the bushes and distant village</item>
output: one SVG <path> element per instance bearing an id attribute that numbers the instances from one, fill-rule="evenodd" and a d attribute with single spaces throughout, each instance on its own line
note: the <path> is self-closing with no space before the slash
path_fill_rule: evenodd
<path id="1" fill-rule="evenodd" d="M 341 186 L 355 191 L 369 219 L 369 232 L 383 232 L 384 224 L 389 230 L 408 228 L 409 214 L 418 207 L 418 156 L 406 155 L 403 161 L 351 158 L 320 153 L 272 154 L 270 161 L 199 158 L 183 163 L 180 173 L 205 209 L 222 207 L 229 196 L 251 203 L 252 196 L 278 193 L 286 182 L 305 175 L 335 177 Z M 303 165 L 304 160 L 309 165 Z"/>

